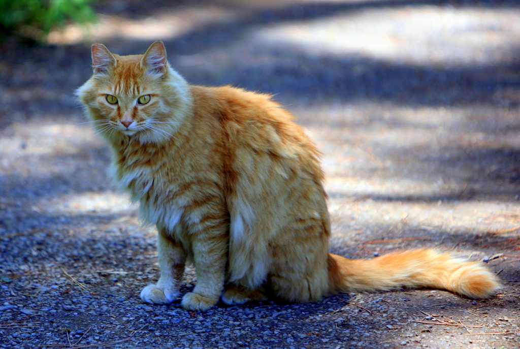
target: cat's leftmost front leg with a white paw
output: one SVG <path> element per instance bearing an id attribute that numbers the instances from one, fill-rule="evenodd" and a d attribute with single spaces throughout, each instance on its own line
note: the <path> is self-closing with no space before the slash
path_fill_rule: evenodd
<path id="1" fill-rule="evenodd" d="M 158 254 L 161 276 L 157 283 L 141 291 L 141 300 L 150 304 L 172 303 L 179 296 L 180 282 L 184 274 L 186 254 L 180 244 L 159 228 Z"/>

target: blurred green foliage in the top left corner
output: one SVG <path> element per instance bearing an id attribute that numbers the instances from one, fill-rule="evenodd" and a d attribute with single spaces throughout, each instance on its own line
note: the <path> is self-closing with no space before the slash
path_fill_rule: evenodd
<path id="1" fill-rule="evenodd" d="M 52 29 L 96 20 L 94 0 L 0 0 L 0 40 L 13 34 L 45 37 Z M 25 29 L 25 30 L 24 30 Z M 29 30 L 28 30 L 29 29 Z"/>

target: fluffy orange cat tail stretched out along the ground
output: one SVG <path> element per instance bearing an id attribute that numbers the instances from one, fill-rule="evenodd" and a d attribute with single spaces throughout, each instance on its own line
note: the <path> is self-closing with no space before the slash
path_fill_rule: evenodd
<path id="1" fill-rule="evenodd" d="M 329 253 L 328 263 L 333 293 L 427 287 L 478 299 L 500 287 L 497 276 L 481 263 L 431 249 L 390 253 L 368 261 Z"/>

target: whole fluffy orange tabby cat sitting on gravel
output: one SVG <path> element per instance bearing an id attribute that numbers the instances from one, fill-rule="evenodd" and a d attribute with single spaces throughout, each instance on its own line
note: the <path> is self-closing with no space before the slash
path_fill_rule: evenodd
<path id="1" fill-rule="evenodd" d="M 369 261 L 328 253 L 319 152 L 269 96 L 191 86 L 161 41 L 145 55 L 92 46 L 93 76 L 77 90 L 113 151 L 113 174 L 159 231 L 152 304 L 179 295 L 186 261 L 197 285 L 182 305 L 205 311 L 274 295 L 318 301 L 336 292 L 432 287 L 485 298 L 499 287 L 479 263 L 435 250 Z"/>

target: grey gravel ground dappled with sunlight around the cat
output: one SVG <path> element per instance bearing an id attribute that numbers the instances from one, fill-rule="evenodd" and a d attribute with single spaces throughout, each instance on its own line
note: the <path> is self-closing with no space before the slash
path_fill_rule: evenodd
<path id="1" fill-rule="evenodd" d="M 516 1 L 104 1 L 91 37 L 0 46 L 1 348 L 518 348 Z M 323 152 L 331 252 L 437 247 L 484 260 L 485 301 L 440 290 L 189 313 L 150 306 L 152 227 L 107 177 L 72 91 L 89 45 L 162 38 L 195 84 L 275 94 Z M 193 288 L 188 270 L 183 292 Z M 479 334 L 480 333 L 480 334 Z"/>

